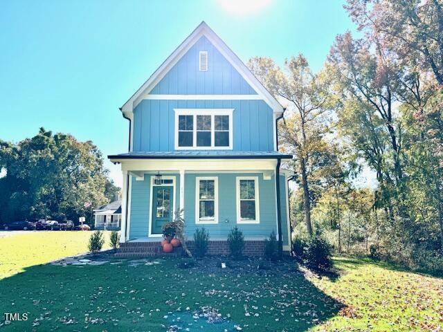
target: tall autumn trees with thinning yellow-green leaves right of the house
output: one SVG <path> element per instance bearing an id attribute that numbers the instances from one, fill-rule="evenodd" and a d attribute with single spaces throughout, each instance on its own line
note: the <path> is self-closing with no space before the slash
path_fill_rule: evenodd
<path id="1" fill-rule="evenodd" d="M 248 62 L 288 105 L 279 135 L 295 156 L 293 234 L 318 228 L 339 252 L 443 270 L 443 1 L 345 9 L 363 37 L 338 35 L 319 73 L 303 55 L 284 68 Z M 377 187 L 356 185 L 365 167 Z"/>

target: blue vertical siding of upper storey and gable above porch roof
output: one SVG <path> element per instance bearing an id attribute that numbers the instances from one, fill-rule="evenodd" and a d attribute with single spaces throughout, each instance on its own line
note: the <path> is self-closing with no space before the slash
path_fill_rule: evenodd
<path id="1" fill-rule="evenodd" d="M 199 71 L 199 51 L 208 71 Z M 242 75 L 201 37 L 150 95 L 257 95 Z M 174 109 L 233 109 L 233 150 L 273 151 L 273 110 L 264 100 L 142 100 L 134 109 L 133 151 L 174 151 Z"/>

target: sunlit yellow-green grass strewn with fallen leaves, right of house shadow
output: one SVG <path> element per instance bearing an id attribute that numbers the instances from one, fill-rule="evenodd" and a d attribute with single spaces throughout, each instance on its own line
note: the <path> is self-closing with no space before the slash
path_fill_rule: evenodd
<path id="1" fill-rule="evenodd" d="M 336 257 L 334 266 L 344 273 L 338 279 L 310 281 L 347 308 L 318 331 L 440 331 L 437 328 L 443 327 L 443 279 L 361 259 Z"/>

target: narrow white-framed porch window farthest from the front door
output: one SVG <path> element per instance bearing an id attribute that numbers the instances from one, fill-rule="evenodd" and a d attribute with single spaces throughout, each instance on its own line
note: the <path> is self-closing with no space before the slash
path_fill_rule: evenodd
<path id="1" fill-rule="evenodd" d="M 237 223 L 260 223 L 258 176 L 237 176 Z"/>

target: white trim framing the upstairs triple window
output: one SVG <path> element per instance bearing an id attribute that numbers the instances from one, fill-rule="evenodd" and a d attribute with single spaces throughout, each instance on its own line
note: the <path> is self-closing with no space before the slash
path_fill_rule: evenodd
<path id="1" fill-rule="evenodd" d="M 232 150 L 233 149 L 233 111 L 234 109 L 174 109 L 175 125 L 174 125 L 174 147 L 176 150 Z M 192 126 L 192 147 L 179 147 L 179 116 L 194 116 L 194 124 Z M 197 147 L 197 116 L 211 116 L 211 146 Z M 229 146 L 215 146 L 215 121 L 214 116 L 229 117 Z"/>

